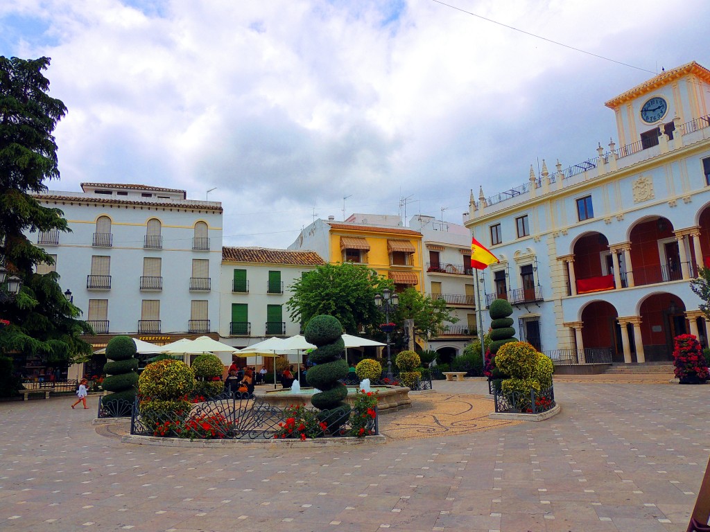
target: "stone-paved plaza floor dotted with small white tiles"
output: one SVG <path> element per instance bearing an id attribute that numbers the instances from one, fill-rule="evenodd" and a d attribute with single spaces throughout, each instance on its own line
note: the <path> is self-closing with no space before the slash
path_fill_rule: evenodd
<path id="1" fill-rule="evenodd" d="M 710 386 L 560 381 L 555 396 L 540 423 L 312 450 L 133 445 L 92 426 L 97 397 L 0 403 L 0 530 L 684 531 Z"/>

